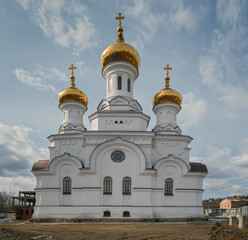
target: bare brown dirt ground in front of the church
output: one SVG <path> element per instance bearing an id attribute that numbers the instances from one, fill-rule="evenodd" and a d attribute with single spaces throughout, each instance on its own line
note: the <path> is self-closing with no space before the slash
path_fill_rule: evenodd
<path id="1" fill-rule="evenodd" d="M 0 239 L 166 239 L 166 240 L 245 240 L 248 235 L 235 232 L 233 238 L 222 238 L 227 223 L 29 223 L 14 222 L 0 224 Z M 239 231 L 235 229 L 235 231 Z M 231 231 L 231 230 L 230 230 Z M 218 233 L 219 235 L 216 235 Z M 230 234 L 230 232 L 228 233 Z M 217 238 L 215 238 L 215 235 Z M 241 237 L 241 238 L 240 238 Z M 247 237 L 247 238 L 246 238 Z"/>

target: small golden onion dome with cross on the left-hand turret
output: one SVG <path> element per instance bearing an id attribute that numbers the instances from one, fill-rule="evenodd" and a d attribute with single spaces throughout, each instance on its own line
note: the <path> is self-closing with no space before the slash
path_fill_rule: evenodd
<path id="1" fill-rule="evenodd" d="M 69 67 L 69 69 L 72 70 L 71 77 L 70 77 L 71 86 L 59 93 L 58 95 L 59 104 L 67 102 L 67 101 L 74 101 L 74 102 L 82 103 L 87 107 L 88 98 L 86 94 L 75 87 L 75 76 L 73 75 L 73 69 L 76 69 L 76 67 L 73 67 L 73 64 L 71 64 L 71 67 Z"/>

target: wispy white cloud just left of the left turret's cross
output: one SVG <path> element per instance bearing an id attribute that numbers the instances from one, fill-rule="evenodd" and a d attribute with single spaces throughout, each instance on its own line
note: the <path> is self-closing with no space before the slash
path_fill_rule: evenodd
<path id="1" fill-rule="evenodd" d="M 68 81 L 65 73 L 60 72 L 57 68 L 45 70 L 43 67 L 38 66 L 38 69 L 32 72 L 26 71 L 23 68 L 16 68 L 14 74 L 23 84 L 41 91 L 52 91 L 54 93 L 57 90 L 52 84 L 47 83 L 48 81 Z"/>

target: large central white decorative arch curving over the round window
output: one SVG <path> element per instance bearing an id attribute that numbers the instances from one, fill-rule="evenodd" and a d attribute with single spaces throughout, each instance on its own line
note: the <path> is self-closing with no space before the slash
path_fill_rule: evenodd
<path id="1" fill-rule="evenodd" d="M 102 156 L 109 150 L 115 150 L 119 148 L 120 150 L 127 150 L 135 154 L 139 160 L 139 172 L 143 173 L 146 170 L 146 157 L 142 149 L 136 144 L 123 140 L 121 138 L 116 138 L 104 143 L 99 144 L 92 152 L 90 156 L 90 169 L 93 172 L 96 172 L 96 161 L 101 159 Z"/>

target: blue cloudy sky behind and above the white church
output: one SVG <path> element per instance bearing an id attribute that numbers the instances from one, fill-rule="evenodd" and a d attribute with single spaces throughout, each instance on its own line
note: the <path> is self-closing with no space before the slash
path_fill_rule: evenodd
<path id="1" fill-rule="evenodd" d="M 117 38 L 139 52 L 134 97 L 155 126 L 152 98 L 170 87 L 183 97 L 178 125 L 192 162 L 208 167 L 203 199 L 248 195 L 248 1 L 0 0 L 0 189 L 33 190 L 34 162 L 48 159 L 47 137 L 58 133 L 57 96 L 76 86 L 88 116 L 106 97 L 103 50 Z"/>

